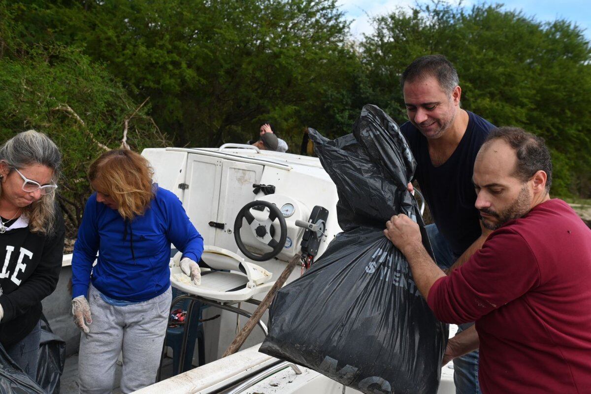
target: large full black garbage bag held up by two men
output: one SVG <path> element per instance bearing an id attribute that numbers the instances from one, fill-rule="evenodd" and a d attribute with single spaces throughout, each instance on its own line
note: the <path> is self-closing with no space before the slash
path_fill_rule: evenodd
<path id="1" fill-rule="evenodd" d="M 382 233 L 392 215 L 408 214 L 431 252 L 417 202 L 406 190 L 415 161 L 404 136 L 370 105 L 352 134 L 335 141 L 315 130 L 309 135 L 336 184 L 345 231 L 275 296 L 260 351 L 366 394 L 434 394 L 447 325 L 434 317 L 408 262 Z"/>

